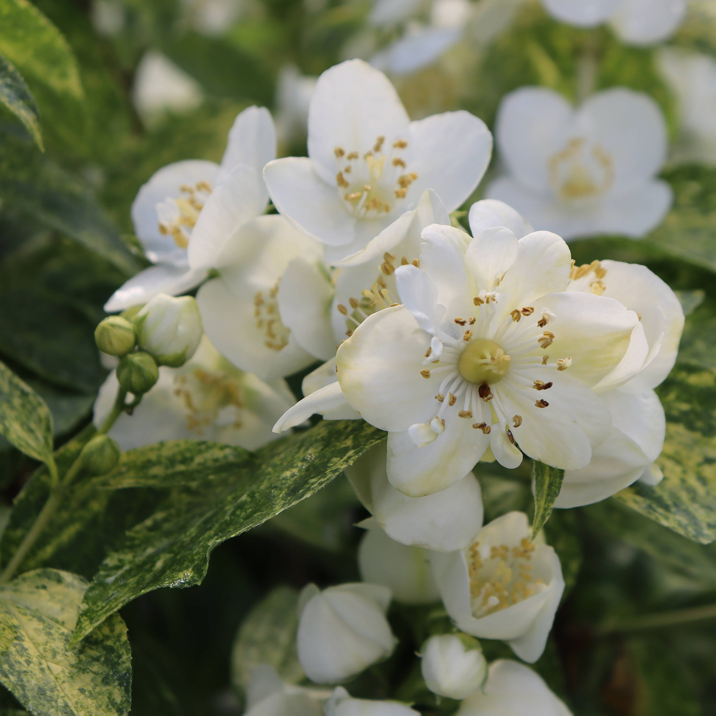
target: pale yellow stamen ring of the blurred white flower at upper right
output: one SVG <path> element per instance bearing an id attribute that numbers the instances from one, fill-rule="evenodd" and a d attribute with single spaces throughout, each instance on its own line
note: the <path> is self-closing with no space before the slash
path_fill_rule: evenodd
<path id="1" fill-rule="evenodd" d="M 549 180 L 563 200 L 590 198 L 614 183 L 614 164 L 599 143 L 588 150 L 584 137 L 574 137 L 550 158 Z"/>

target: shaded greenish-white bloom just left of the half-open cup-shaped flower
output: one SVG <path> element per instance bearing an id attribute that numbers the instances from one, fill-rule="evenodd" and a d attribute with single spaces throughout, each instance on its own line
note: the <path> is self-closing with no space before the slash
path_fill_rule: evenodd
<path id="1" fill-rule="evenodd" d="M 375 524 L 367 526 L 360 542 L 358 566 L 363 581 L 387 586 L 403 604 L 431 604 L 440 599 L 427 550 L 396 542 Z"/>

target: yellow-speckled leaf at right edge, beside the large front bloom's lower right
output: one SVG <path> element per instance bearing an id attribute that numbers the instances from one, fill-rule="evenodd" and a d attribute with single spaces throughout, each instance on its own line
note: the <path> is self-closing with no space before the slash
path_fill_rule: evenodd
<path id="1" fill-rule="evenodd" d="M 716 539 L 716 372 L 677 366 L 657 389 L 667 435 L 664 479 L 615 496 L 642 515 L 702 544 Z"/>

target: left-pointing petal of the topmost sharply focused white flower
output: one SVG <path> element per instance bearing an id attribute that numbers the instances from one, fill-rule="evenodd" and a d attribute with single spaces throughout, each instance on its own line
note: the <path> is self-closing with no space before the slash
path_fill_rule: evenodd
<path id="1" fill-rule="evenodd" d="M 276 208 L 299 231 L 329 246 L 354 240 L 357 221 L 344 207 L 335 178 L 322 180 L 310 159 L 276 159 L 263 168 L 263 179 Z"/>

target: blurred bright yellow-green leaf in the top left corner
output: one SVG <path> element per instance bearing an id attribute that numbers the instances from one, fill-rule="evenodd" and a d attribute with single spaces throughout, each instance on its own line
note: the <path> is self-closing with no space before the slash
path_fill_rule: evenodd
<path id="1" fill-rule="evenodd" d="M 57 27 L 27 0 L 0 0 L 0 54 L 25 77 L 82 98 L 77 62 Z"/>

